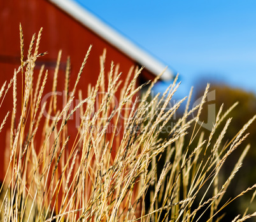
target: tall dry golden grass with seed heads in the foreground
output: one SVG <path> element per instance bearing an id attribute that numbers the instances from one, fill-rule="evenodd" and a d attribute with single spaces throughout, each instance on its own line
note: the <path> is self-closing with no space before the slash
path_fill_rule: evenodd
<path id="1" fill-rule="evenodd" d="M 236 175 L 248 148 L 242 153 L 231 176 L 221 184 L 220 169 L 229 155 L 245 140 L 247 127 L 255 116 L 229 143 L 222 145 L 225 132 L 231 123 L 227 119 L 217 141 L 213 134 L 220 123 L 225 121 L 232 108 L 217 114 L 209 138 L 204 138 L 203 130 L 197 124 L 203 100 L 197 107 L 189 110 L 192 90 L 188 98 L 164 111 L 178 88 L 177 78 L 166 89 L 163 96 L 156 95 L 151 100 L 153 84 L 141 96 L 138 92 L 143 86 L 136 86 L 141 70 L 131 69 L 125 82 L 121 84 L 118 67 L 111 64 L 108 82 L 104 82 L 104 58 L 101 56 L 101 72 L 96 86 L 89 86 L 88 94 L 71 108 L 75 101 L 77 83 L 89 56 L 91 46 L 82 63 L 75 86 L 69 85 L 70 64 L 66 69 L 66 101 L 64 108 L 57 110 L 57 97 L 54 93 L 41 103 L 47 81 L 47 70 L 39 72 L 36 88 L 33 88 L 34 67 L 38 54 L 41 30 L 38 34 L 34 53 L 32 48 L 36 39 L 32 37 L 27 60 L 24 61 L 22 28 L 21 65 L 15 70 L 13 79 L 6 88 L 1 88 L 1 96 L 13 87 L 13 110 L 11 126 L 4 126 L 13 133 L 10 139 L 10 162 L 3 187 L 1 187 L 1 220 L 3 221 L 199 221 L 206 215 L 208 221 L 218 221 L 230 202 L 255 186 L 238 194 L 220 205 L 225 190 Z M 57 59 L 52 91 L 56 91 L 57 73 L 61 53 Z M 133 77 L 132 77 L 133 73 Z M 22 91 L 17 91 L 17 75 L 24 75 Z M 43 79 L 41 83 L 41 79 Z M 107 87 L 106 87 L 107 86 Z M 122 86 L 121 89 L 120 86 Z M 69 91 L 72 89 L 71 91 Z M 120 100 L 115 104 L 113 95 L 120 90 Z M 105 92 L 99 96 L 99 92 Z M 85 93 L 85 92 L 83 92 Z M 21 115 L 17 116 L 17 95 L 22 94 Z M 1 98 L 1 104 L 4 100 Z M 99 100 L 96 100 L 99 96 Z M 131 105 L 130 101 L 134 101 Z M 159 134 L 167 126 L 181 103 L 187 100 L 183 116 L 176 121 L 167 138 Z M 99 108 L 96 110 L 96 102 Z M 54 119 L 43 118 L 42 110 Z M 125 109 L 124 109 L 125 108 Z M 69 141 L 68 126 L 72 115 L 80 113 L 80 127 L 75 140 Z M 191 117 L 197 111 L 196 117 Z M 17 125 L 14 124 L 17 122 Z M 121 133 L 118 127 L 122 126 Z M 107 132 L 111 126 L 111 133 Z M 92 131 L 97 127 L 97 131 Z M 193 133 L 188 137 L 187 129 Z M 43 131 L 41 141 L 36 143 L 38 129 Z M 185 146 L 185 141 L 189 141 Z M 196 147 L 194 144 L 197 143 Z M 39 145 L 39 147 L 38 147 Z M 194 147 L 193 147 L 194 146 Z M 69 148 L 67 148 L 69 147 Z M 164 159 L 164 167 L 160 162 Z M 161 160 L 161 161 L 159 161 Z M 158 173 L 160 171 L 160 174 Z M 252 195 L 253 201 L 255 195 Z M 248 209 L 246 209 L 246 212 Z M 245 221 L 252 214 L 237 216 L 233 221 Z"/>

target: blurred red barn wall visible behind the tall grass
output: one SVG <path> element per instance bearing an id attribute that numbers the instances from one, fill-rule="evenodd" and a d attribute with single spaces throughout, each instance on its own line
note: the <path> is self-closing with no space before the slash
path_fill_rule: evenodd
<path id="1" fill-rule="evenodd" d="M 48 69 L 48 83 L 45 91 L 51 91 L 53 72 L 57 60 L 59 49 L 62 49 L 62 59 L 60 64 L 60 72 L 58 77 L 58 89 L 64 89 L 64 69 L 67 57 L 71 57 L 71 82 L 70 87 L 73 88 L 76 76 L 79 72 L 83 58 L 87 53 L 87 49 L 92 44 L 87 64 L 83 71 L 82 77 L 78 84 L 78 89 L 83 89 L 83 97 L 87 96 L 87 85 L 96 84 L 99 74 L 99 56 L 102 55 L 103 49 L 106 48 L 106 72 L 110 70 L 110 63 L 113 60 L 115 64 L 120 64 L 120 71 L 124 74 L 122 79 L 125 79 L 127 72 L 136 62 L 128 58 L 124 53 L 119 51 L 114 46 L 111 46 L 103 38 L 94 34 L 87 29 L 82 23 L 76 21 L 64 11 L 60 10 L 52 3 L 45 0 L 22 0 L 22 1 L 0 1 L 0 87 L 4 81 L 7 83 L 13 77 L 14 69 L 18 69 L 20 65 L 20 36 L 19 24 L 22 24 L 24 32 L 24 56 L 29 48 L 32 34 L 38 33 L 43 27 L 43 35 L 39 46 L 39 53 L 45 51 L 48 55 L 38 59 L 36 73 L 45 63 L 45 69 Z M 25 60 L 24 58 L 24 60 Z M 62 71 L 61 71 L 62 70 Z M 143 71 L 146 79 L 153 75 L 147 70 Z M 20 75 L 20 74 L 19 74 Z M 37 79 L 37 76 L 35 76 Z M 21 77 L 18 76 L 18 84 L 21 82 Z M 18 95 L 19 96 L 19 95 Z M 18 97 L 18 100 L 21 96 Z M 8 110 L 12 110 L 12 89 L 10 89 L 1 107 L 0 122 Z M 11 115 L 10 115 L 11 116 Z M 17 114 L 18 116 L 18 114 Z M 10 126 L 10 119 L 6 122 L 3 132 L 0 134 L 0 180 L 3 181 L 3 149 L 6 147 L 6 128 Z"/>

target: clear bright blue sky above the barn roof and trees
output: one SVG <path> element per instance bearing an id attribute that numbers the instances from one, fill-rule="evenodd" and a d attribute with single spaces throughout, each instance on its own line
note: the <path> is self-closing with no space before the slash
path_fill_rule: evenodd
<path id="1" fill-rule="evenodd" d="M 76 0 L 181 75 L 256 93 L 256 1 Z"/>

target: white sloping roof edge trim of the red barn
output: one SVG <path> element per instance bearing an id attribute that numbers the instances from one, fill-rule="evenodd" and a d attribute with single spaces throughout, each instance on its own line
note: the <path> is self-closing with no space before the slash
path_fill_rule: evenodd
<path id="1" fill-rule="evenodd" d="M 159 75 L 166 67 L 164 64 L 150 56 L 148 53 L 138 48 L 134 43 L 120 35 L 117 31 L 103 23 L 99 18 L 92 15 L 89 11 L 85 10 L 80 4 L 72 0 L 49 0 L 60 9 L 66 11 L 69 15 L 73 16 L 76 20 L 80 21 L 83 25 L 96 32 L 99 36 L 103 37 L 106 41 L 110 42 L 113 46 L 117 47 L 131 57 L 146 69 L 150 70 L 155 75 Z M 167 69 L 162 75 L 161 79 L 169 81 L 173 79 L 173 71 Z"/>

